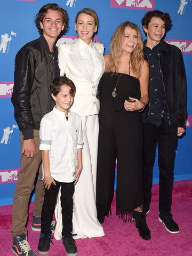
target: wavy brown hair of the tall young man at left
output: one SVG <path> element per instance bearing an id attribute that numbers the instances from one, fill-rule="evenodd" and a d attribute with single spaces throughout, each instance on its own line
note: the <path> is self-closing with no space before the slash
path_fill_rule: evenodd
<path id="1" fill-rule="evenodd" d="M 43 18 L 45 17 L 45 14 L 47 13 L 48 10 L 60 11 L 61 12 L 62 22 L 63 22 L 63 25 L 65 25 L 65 26 L 64 26 L 64 29 L 61 30 L 60 35 L 66 33 L 66 31 L 68 29 L 68 21 L 69 21 L 67 11 L 65 9 L 61 8 L 58 4 L 45 4 L 41 7 L 39 12 L 35 16 L 35 24 L 37 26 L 39 34 L 40 35 L 43 34 L 43 29 L 41 28 L 40 22 L 43 21 Z"/>

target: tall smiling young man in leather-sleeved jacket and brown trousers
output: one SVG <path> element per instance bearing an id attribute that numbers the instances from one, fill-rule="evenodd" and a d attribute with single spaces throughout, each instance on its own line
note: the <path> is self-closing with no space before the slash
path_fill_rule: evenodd
<path id="1" fill-rule="evenodd" d="M 15 57 L 12 103 L 20 129 L 21 169 L 13 199 L 12 229 L 15 255 L 37 255 L 27 241 L 28 203 L 42 162 L 39 127 L 42 117 L 52 110 L 50 86 L 60 75 L 55 42 L 68 27 L 68 14 L 57 4 L 44 5 L 36 15 L 41 37 L 23 46 Z M 44 185 L 39 174 L 36 185 L 33 229 L 41 229 Z"/>

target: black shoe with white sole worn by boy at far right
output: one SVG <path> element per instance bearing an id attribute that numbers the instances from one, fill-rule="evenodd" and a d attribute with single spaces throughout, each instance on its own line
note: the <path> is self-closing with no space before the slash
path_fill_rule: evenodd
<path id="1" fill-rule="evenodd" d="M 158 220 L 163 223 L 166 230 L 170 233 L 179 233 L 179 227 L 177 223 L 173 220 L 170 212 L 160 213 Z"/>

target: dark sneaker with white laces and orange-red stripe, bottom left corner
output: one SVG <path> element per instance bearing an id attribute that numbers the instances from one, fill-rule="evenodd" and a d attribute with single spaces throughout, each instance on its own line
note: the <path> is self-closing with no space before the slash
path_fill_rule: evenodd
<path id="1" fill-rule="evenodd" d="M 25 234 L 13 237 L 11 251 L 18 256 L 37 256 L 37 254 L 31 249 Z"/>

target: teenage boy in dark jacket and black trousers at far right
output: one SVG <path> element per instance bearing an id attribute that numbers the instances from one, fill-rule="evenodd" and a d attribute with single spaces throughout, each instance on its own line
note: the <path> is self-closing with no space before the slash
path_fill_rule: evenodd
<path id="1" fill-rule="evenodd" d="M 170 233 L 179 233 L 172 219 L 172 188 L 178 136 L 185 133 L 186 75 L 180 49 L 163 41 L 171 27 L 168 13 L 147 12 L 142 19 L 147 41 L 143 53 L 149 63 L 149 103 L 143 118 L 143 185 L 145 209 L 149 212 L 153 167 L 158 145 L 159 221 Z"/>

